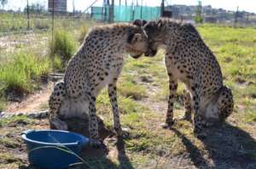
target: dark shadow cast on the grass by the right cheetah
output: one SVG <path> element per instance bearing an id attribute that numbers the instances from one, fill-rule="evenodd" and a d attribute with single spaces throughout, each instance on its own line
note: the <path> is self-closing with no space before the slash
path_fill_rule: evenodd
<path id="1" fill-rule="evenodd" d="M 207 150 L 207 157 L 183 133 L 173 127 L 171 130 L 182 139 L 190 160 L 198 168 L 256 168 L 256 140 L 239 127 L 226 122 L 209 127 L 207 138 L 201 139 Z"/>

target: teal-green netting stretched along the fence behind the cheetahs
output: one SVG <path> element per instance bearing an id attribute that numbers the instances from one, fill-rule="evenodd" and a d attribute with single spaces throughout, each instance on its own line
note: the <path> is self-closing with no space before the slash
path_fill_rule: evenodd
<path id="1" fill-rule="evenodd" d="M 160 18 L 160 7 L 114 6 L 113 20 L 115 22 L 130 22 L 136 19 L 156 20 Z M 109 6 L 91 7 L 91 17 L 94 20 L 108 21 Z"/>

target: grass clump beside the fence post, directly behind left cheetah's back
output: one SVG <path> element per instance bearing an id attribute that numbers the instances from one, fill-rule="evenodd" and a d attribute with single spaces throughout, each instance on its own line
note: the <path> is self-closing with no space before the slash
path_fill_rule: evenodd
<path id="1" fill-rule="evenodd" d="M 55 31 L 54 40 L 50 43 L 51 55 L 61 56 L 62 64 L 66 65 L 76 49 L 76 43 L 73 36 L 65 30 Z"/>

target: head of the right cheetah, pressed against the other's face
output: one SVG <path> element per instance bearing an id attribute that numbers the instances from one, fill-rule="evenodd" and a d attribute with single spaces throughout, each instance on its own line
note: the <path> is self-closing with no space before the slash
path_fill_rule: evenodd
<path id="1" fill-rule="evenodd" d="M 145 56 L 153 57 L 158 48 L 163 45 L 166 23 L 164 20 L 149 21 L 143 26 L 144 31 L 148 35 L 148 51 Z"/>

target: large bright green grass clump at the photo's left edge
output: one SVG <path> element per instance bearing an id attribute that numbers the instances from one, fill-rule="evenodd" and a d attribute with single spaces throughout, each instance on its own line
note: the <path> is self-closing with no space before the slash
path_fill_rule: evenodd
<path id="1" fill-rule="evenodd" d="M 49 68 L 47 58 L 38 58 L 29 52 L 16 53 L 9 63 L 0 67 L 0 90 L 27 93 L 32 89 L 30 82 L 47 75 Z"/>

